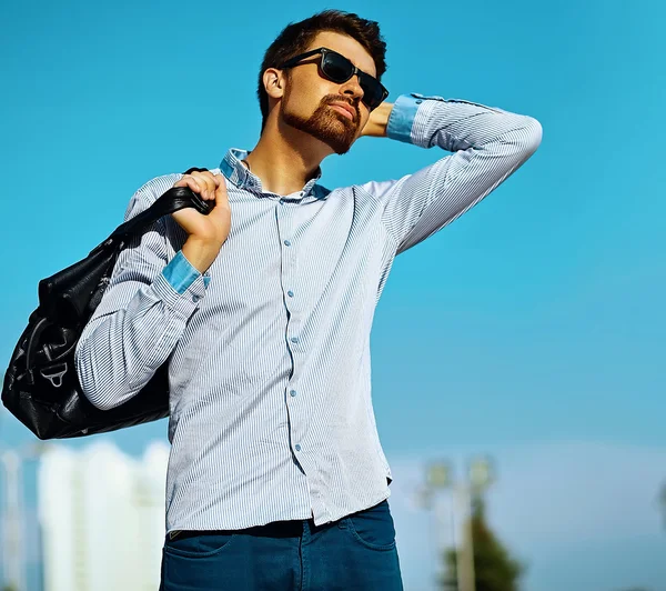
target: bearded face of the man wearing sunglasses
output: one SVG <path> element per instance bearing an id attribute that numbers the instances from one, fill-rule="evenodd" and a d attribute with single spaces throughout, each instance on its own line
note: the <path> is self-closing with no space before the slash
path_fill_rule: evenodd
<path id="1" fill-rule="evenodd" d="M 355 39 L 323 31 L 313 39 L 305 51 L 320 47 L 341 53 L 360 70 L 376 76 L 372 56 Z M 320 74 L 320 61 L 321 54 L 313 56 L 287 70 L 280 116 L 286 124 L 313 136 L 334 152 L 343 154 L 359 138 L 370 111 L 361 102 L 363 90 L 359 86 L 359 77 L 353 76 L 343 83 L 333 82 Z M 335 103 L 351 106 L 354 110 L 353 117 Z"/>

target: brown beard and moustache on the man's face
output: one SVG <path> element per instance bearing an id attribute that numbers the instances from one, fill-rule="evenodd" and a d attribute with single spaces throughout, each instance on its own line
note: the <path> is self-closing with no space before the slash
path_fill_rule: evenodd
<path id="1" fill-rule="evenodd" d="M 352 104 L 355 110 L 354 120 L 352 121 L 335 109 L 331 109 L 330 104 L 332 102 L 349 103 L 349 100 L 339 94 L 327 94 L 310 117 L 305 118 L 282 111 L 282 118 L 286 124 L 324 142 L 335 153 L 344 154 L 349 152 L 356 139 L 359 126 L 361 124 L 361 113 L 359 112 L 359 106 Z"/>

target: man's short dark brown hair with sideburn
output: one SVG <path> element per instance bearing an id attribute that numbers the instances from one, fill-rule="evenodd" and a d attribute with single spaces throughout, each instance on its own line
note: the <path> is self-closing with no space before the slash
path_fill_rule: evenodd
<path id="1" fill-rule="evenodd" d="M 341 10 L 324 10 L 309 19 L 287 24 L 264 54 L 259 72 L 256 94 L 261 107 L 263 130 L 269 116 L 269 94 L 264 89 L 263 73 L 269 68 L 278 68 L 286 60 L 305 52 L 317 33 L 331 31 L 346 34 L 361 43 L 372 56 L 377 71 L 377 80 L 386 71 L 386 43 L 380 33 L 380 26 L 373 20 L 362 19 L 357 14 Z"/>

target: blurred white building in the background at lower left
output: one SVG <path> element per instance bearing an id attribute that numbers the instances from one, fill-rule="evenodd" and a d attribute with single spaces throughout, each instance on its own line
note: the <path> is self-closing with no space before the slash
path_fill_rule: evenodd
<path id="1" fill-rule="evenodd" d="M 52 445 L 38 473 L 44 591 L 155 591 L 169 448 L 134 459 L 95 442 Z"/>

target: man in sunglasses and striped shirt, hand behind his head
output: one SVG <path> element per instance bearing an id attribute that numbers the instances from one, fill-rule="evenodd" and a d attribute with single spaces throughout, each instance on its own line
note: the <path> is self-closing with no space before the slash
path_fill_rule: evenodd
<path id="1" fill-rule="evenodd" d="M 262 134 L 172 186 L 215 202 L 127 248 L 77 350 L 111 409 L 169 363 L 162 589 L 402 589 L 391 470 L 371 402 L 370 331 L 394 257 L 473 207 L 536 150 L 541 126 L 417 94 L 383 102 L 375 22 L 290 24 L 261 67 Z M 361 136 L 453 152 L 396 181 L 329 190 L 320 163 Z"/>

